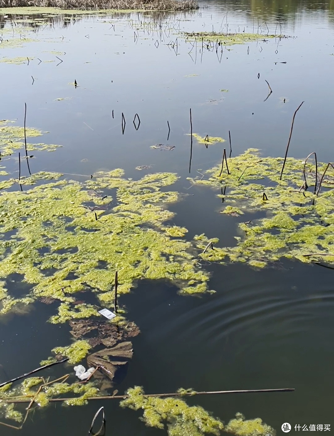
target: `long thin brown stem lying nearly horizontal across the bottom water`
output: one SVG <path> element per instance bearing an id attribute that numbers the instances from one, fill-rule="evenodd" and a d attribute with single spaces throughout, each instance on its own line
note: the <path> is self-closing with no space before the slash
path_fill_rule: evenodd
<path id="1" fill-rule="evenodd" d="M 245 389 L 240 391 L 202 391 L 202 392 L 172 392 L 169 394 L 145 394 L 144 397 L 182 397 L 182 396 L 192 396 L 192 395 L 214 395 L 214 394 L 246 394 L 246 393 L 257 393 L 257 392 L 294 392 L 295 388 L 282 388 L 282 389 Z M 129 395 L 107 395 L 101 397 L 87 397 L 86 400 L 111 400 L 111 399 L 125 399 L 129 398 Z M 76 399 L 74 398 L 51 398 L 49 402 L 59 402 L 59 401 L 69 401 Z M 0 398 L 1 401 L 7 403 L 29 403 L 30 400 L 10 400 L 9 398 Z"/>

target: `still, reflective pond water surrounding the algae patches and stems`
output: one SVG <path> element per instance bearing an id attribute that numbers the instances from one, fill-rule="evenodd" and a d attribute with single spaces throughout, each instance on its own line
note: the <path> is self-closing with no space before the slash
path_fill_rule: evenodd
<path id="1" fill-rule="evenodd" d="M 216 51 L 215 43 L 202 50 L 202 41 L 182 36 L 183 31 L 226 32 L 226 12 L 228 32 L 263 38 Z M 186 227 L 189 241 L 205 233 L 224 247 L 235 243 L 243 218 L 219 214 L 219 189 L 192 186 L 187 177 L 221 161 L 223 148 L 229 151 L 229 131 L 232 156 L 250 147 L 264 156 L 284 156 L 292 116 L 304 101 L 289 156 L 304 160 L 316 151 L 319 161 L 333 160 L 333 1 L 216 0 L 186 14 L 39 15 L 46 24 L 35 18 L 0 15 L 2 44 L 17 41 L 15 47 L 0 44 L 0 61 L 29 59 L 20 65 L 0 63 L 0 119 L 17 119 L 23 126 L 26 102 L 27 126 L 48 132 L 32 142 L 62 145 L 34 152 L 32 173 L 61 172 L 80 182 L 114 168 L 135 180 L 152 172 L 177 173 L 175 184 L 163 188 L 182 193 L 182 201 L 168 206 L 175 215 L 167 223 Z M 23 19 L 24 29 L 18 30 Z M 159 31 L 156 23 L 162 23 Z M 268 38 L 268 33 L 288 38 Z M 266 81 L 272 89 L 268 98 Z M 190 108 L 193 133 L 226 142 L 206 148 L 194 140 L 190 155 Z M 155 144 L 174 148 L 152 149 Z M 5 166 L 10 177 L 18 178 L 17 151 Z M 137 166 L 150 168 L 138 171 Z M 26 161 L 21 174 L 28 175 Z M 10 188 L 17 189 L 18 184 Z M 147 393 L 180 387 L 295 388 L 203 395 L 189 404 L 202 405 L 224 422 L 236 412 L 260 417 L 277 433 L 283 422 L 292 431 L 296 424 L 333 425 L 333 270 L 288 260 L 264 269 L 238 262 L 207 262 L 202 268 L 216 293 L 181 296 L 172 283 L 142 279 L 119 297 L 127 318 L 141 330 L 132 339 L 132 361 L 115 386 L 119 393 L 134 385 Z M 16 297 L 31 289 L 22 276 L 7 286 Z M 0 381 L 37 368 L 52 348 L 71 342 L 67 323 L 47 322 L 54 305 L 30 306 L 25 314 L 0 316 Z M 61 376 L 60 366 L 47 375 Z M 164 433 L 146 427 L 138 412 L 121 409 L 117 401 L 36 410 L 20 432 L 87 434 L 99 405 L 105 407 L 107 435 Z M 16 432 L 4 426 L 0 431 L 4 436 Z"/>

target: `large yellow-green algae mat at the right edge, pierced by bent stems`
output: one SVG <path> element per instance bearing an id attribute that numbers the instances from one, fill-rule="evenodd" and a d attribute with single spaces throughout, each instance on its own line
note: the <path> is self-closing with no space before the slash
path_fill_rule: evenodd
<path id="1" fill-rule="evenodd" d="M 217 190 L 218 197 L 224 200 L 220 212 L 232 216 L 247 214 L 243 219 L 246 222 L 238 224 L 236 246 L 207 249 L 200 255 L 202 259 L 248 262 L 259 268 L 281 258 L 334 263 L 333 175 L 326 173 L 317 196 L 313 164 L 305 167 L 310 184 L 307 190 L 301 160 L 287 159 L 282 180 L 283 159 L 260 157 L 254 149 L 228 159 L 227 164 L 230 174 L 224 163 L 223 168 L 219 164 L 207 170 L 202 178 L 189 178 L 193 184 Z M 325 164 L 318 163 L 317 186 L 324 168 Z M 196 245 L 204 251 L 208 242 L 201 235 Z"/>

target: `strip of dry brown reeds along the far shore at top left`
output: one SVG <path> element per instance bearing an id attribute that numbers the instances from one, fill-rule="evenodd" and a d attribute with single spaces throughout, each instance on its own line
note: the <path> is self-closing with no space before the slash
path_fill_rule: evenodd
<path id="1" fill-rule="evenodd" d="M 10 8 L 57 8 L 60 10 L 188 11 L 199 9 L 197 0 L 0 0 L 0 14 Z M 6 11 L 3 9 L 6 8 Z"/>

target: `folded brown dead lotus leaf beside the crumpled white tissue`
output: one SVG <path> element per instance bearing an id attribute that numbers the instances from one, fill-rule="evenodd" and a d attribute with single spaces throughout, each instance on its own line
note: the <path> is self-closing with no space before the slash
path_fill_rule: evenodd
<path id="1" fill-rule="evenodd" d="M 132 354 L 132 342 L 121 342 L 114 347 L 104 348 L 89 355 L 87 363 L 90 368 L 98 366 L 112 380 L 118 367 L 127 364 L 128 360 L 132 358 Z M 118 360 L 120 358 L 127 360 Z"/>

